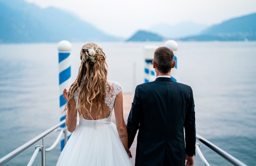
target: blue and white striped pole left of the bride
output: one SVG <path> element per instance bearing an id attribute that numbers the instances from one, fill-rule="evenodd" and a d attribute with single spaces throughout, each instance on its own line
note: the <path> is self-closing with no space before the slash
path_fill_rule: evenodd
<path id="1" fill-rule="evenodd" d="M 70 64 L 70 51 L 71 51 L 71 43 L 67 40 L 62 40 L 58 43 L 58 51 L 59 51 L 59 107 L 61 118 L 60 121 L 64 120 L 65 114 L 62 113 L 66 100 L 63 98 L 63 90 L 68 88 L 71 85 L 71 64 Z M 61 127 L 65 127 L 65 124 L 61 125 Z M 70 135 L 70 133 L 68 133 Z M 61 140 L 61 150 L 63 150 L 65 146 L 65 140 Z"/>

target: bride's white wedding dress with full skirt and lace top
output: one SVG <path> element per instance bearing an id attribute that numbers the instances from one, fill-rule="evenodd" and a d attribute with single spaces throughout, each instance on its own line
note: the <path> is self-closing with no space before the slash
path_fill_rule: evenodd
<path id="1" fill-rule="evenodd" d="M 122 87 L 115 81 L 108 82 L 111 87 L 106 86 L 110 93 L 107 93 L 105 103 L 110 107 L 109 117 L 99 120 L 82 118 L 61 152 L 57 166 L 132 166 L 116 125 L 112 123 L 115 99 Z M 74 99 L 77 102 L 77 93 Z"/>

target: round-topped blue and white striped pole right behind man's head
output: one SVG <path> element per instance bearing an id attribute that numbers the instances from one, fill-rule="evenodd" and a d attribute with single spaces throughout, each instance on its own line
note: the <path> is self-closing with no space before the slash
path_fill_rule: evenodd
<path id="1" fill-rule="evenodd" d="M 167 40 L 165 42 L 165 47 L 170 48 L 174 53 L 174 60 L 176 61 L 176 65 L 173 69 L 171 69 L 171 78 L 173 81 L 177 82 L 177 49 L 178 49 L 178 43 L 174 40 Z"/>

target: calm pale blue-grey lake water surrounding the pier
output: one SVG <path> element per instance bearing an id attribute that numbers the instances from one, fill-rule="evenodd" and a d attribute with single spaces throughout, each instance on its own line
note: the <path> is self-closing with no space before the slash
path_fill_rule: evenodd
<path id="1" fill-rule="evenodd" d="M 71 44 L 74 80 L 85 43 Z M 242 162 L 255 165 L 256 42 L 178 44 L 178 82 L 193 89 L 197 133 Z M 124 92 L 133 92 L 144 81 L 144 46 L 164 43 L 98 45 L 107 56 L 109 79 L 118 81 Z M 57 43 L 0 45 L 0 158 L 59 122 L 58 75 Z M 46 146 L 56 137 L 55 132 L 46 136 Z M 202 143 L 200 148 L 211 166 L 231 165 Z M 31 146 L 6 166 L 26 165 L 34 150 Z M 47 152 L 47 165 L 55 165 L 59 154 L 59 145 Z M 34 165 L 40 164 L 39 154 Z M 198 154 L 195 165 L 204 165 Z"/>

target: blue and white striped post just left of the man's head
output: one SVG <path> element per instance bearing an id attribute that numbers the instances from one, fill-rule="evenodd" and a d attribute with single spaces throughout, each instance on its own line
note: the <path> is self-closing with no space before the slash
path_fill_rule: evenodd
<path id="1" fill-rule="evenodd" d="M 145 46 L 145 69 L 144 69 L 144 82 L 151 82 L 156 79 L 156 72 L 153 68 L 154 51 L 157 46 Z"/>

